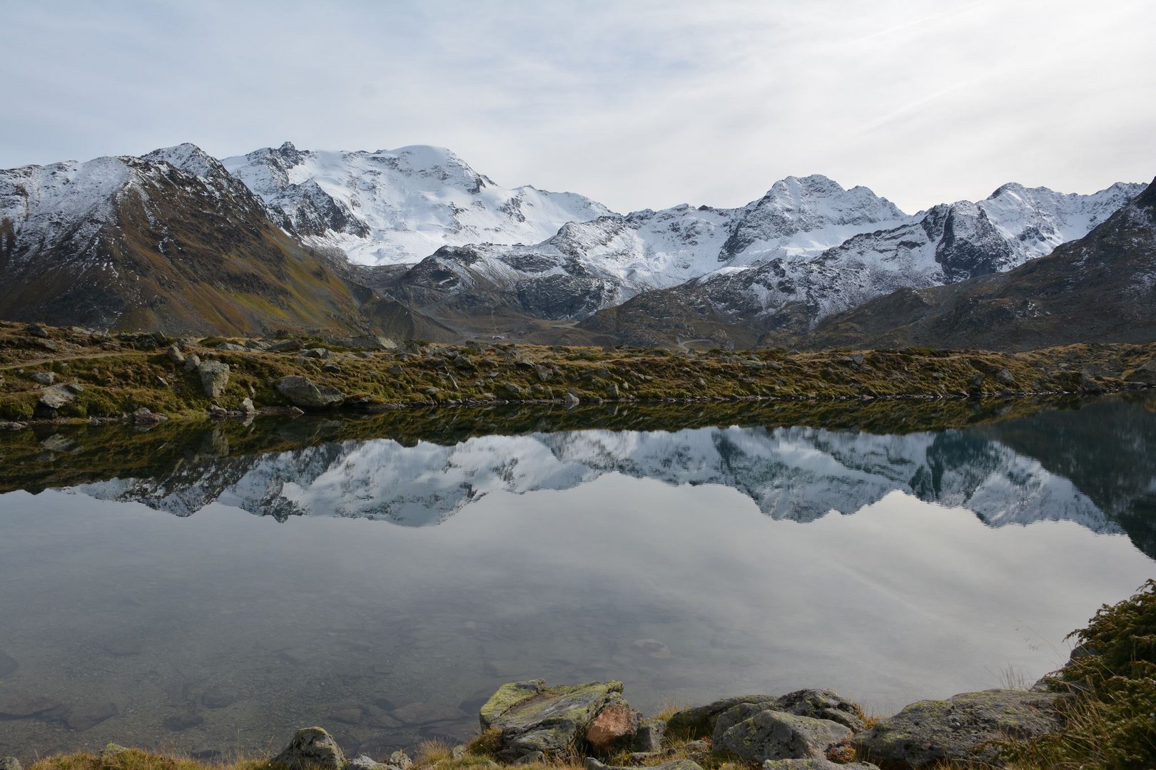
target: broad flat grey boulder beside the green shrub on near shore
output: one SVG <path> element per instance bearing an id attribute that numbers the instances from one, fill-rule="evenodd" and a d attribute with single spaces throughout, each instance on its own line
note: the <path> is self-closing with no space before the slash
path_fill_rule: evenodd
<path id="1" fill-rule="evenodd" d="M 922 768 L 944 762 L 999 762 L 999 741 L 1058 732 L 1059 693 L 984 690 L 946 701 L 919 701 L 859 733 L 860 756 L 887 765 Z"/>

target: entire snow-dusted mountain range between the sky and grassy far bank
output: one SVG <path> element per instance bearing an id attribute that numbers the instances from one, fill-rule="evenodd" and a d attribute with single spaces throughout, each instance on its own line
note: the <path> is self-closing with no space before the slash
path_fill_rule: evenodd
<path id="1" fill-rule="evenodd" d="M 180 144 L 0 171 L 0 316 L 169 332 L 705 346 L 809 344 L 816 330 L 828 336 L 815 339 L 858 344 L 870 324 L 840 314 L 897 291 L 888 301 L 955 297 L 998 275 L 1018 285 L 1016 270 L 1084 239 L 1143 190 L 1008 184 L 983 201 L 907 215 L 866 187 L 810 175 L 739 208 L 620 215 L 573 193 L 502 187 L 440 148 L 326 152 L 287 142 L 217 160 Z M 1107 242 L 1085 245 L 1083 259 Z M 1142 271 L 1153 261 L 1150 251 L 1128 259 Z M 1107 275 L 1092 304 L 1119 278 Z"/>

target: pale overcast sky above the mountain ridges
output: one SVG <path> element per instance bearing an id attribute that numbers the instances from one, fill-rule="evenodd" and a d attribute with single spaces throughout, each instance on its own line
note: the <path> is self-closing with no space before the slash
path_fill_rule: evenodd
<path id="1" fill-rule="evenodd" d="M 625 211 L 1156 174 L 1151 0 L 5 0 L 0 167 L 449 147 Z"/>

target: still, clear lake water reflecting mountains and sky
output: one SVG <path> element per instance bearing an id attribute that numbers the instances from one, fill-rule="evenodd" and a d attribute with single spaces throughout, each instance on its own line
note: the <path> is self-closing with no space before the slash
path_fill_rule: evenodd
<path id="1" fill-rule="evenodd" d="M 23 758 L 230 755 L 311 724 L 378 756 L 468 737 L 498 685 L 539 676 L 621 679 L 644 711 L 830 687 L 885 712 L 1030 683 L 1156 573 L 1139 401 L 903 435 L 199 439 L 177 459 L 171 436 L 126 478 L 36 440 L 21 457 L 80 480 L 0 495 L 0 754 Z"/>

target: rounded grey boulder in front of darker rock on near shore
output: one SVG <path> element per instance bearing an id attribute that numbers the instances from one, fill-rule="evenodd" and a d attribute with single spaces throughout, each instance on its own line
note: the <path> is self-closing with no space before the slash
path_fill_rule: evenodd
<path id="1" fill-rule="evenodd" d="M 716 752 L 729 752 L 748 762 L 827 757 L 853 733 L 830 719 L 812 719 L 786 711 L 759 711 L 714 741 Z"/>

